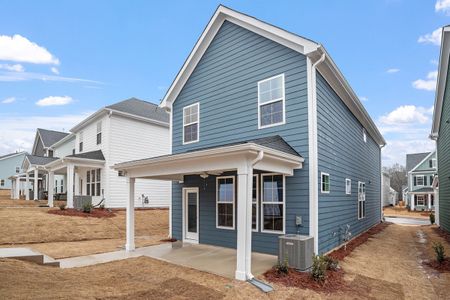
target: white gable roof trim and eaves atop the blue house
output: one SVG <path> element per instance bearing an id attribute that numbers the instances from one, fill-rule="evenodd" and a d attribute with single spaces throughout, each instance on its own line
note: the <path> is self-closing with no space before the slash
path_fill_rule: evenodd
<path id="1" fill-rule="evenodd" d="M 323 62 L 317 66 L 317 69 L 320 71 L 322 76 L 327 80 L 330 86 L 339 95 L 348 109 L 364 126 L 366 131 L 377 142 L 377 144 L 379 146 L 384 146 L 386 144 L 386 141 L 362 105 L 358 96 L 356 96 L 355 92 L 352 90 L 343 74 L 340 72 L 322 45 L 283 30 L 279 27 L 260 21 L 254 17 L 232 10 L 223 5 L 219 5 L 208 25 L 204 29 L 182 68 L 172 82 L 170 88 L 164 96 L 164 99 L 161 101 L 161 107 L 171 108 L 172 103 L 176 100 L 178 94 L 181 92 L 189 79 L 189 76 L 200 62 L 209 44 L 214 39 L 216 33 L 225 21 L 234 23 L 301 54 L 304 54 L 308 56 L 313 63 L 321 60 L 323 57 Z"/>

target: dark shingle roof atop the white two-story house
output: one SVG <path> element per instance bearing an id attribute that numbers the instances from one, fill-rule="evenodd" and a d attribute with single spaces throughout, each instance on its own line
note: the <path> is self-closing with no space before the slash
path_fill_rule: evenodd
<path id="1" fill-rule="evenodd" d="M 156 104 L 136 98 L 130 98 L 128 100 L 106 106 L 106 108 L 118 110 L 159 122 L 169 123 L 169 114 L 164 109 L 160 108 Z"/>

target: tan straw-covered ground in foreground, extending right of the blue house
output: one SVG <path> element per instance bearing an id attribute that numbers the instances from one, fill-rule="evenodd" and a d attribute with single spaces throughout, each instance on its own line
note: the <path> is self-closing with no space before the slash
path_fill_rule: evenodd
<path id="1" fill-rule="evenodd" d="M 0 217 L 1 219 L 1 217 Z M 431 226 L 391 225 L 342 262 L 349 288 L 330 294 L 274 285 L 253 286 L 216 275 L 136 258 L 77 269 L 55 269 L 0 260 L 0 296 L 5 299 L 450 299 L 450 273 L 423 263 L 432 241 L 450 244 Z"/>

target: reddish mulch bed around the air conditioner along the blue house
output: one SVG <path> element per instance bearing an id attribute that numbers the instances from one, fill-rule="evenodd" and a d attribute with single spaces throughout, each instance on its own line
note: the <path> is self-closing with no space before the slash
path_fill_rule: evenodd
<path id="1" fill-rule="evenodd" d="M 385 222 L 370 228 L 366 232 L 348 242 L 346 249 L 342 246 L 328 254 L 328 256 L 338 261 L 343 260 L 358 246 L 364 244 L 373 235 L 380 233 L 391 224 L 392 223 Z M 314 280 L 309 272 L 299 272 L 293 268 L 289 268 L 288 273 L 284 274 L 278 272 L 276 267 L 273 267 L 263 274 L 264 278 L 266 278 L 269 282 L 279 283 L 288 287 L 311 289 L 316 292 L 325 293 L 352 291 L 353 288 L 344 280 L 344 275 L 344 270 L 340 268 L 329 269 L 327 270 L 325 281 L 320 282 Z"/>

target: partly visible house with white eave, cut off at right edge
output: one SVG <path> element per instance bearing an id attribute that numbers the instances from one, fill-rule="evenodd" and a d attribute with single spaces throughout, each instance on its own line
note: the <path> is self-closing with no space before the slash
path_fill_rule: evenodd
<path id="1" fill-rule="evenodd" d="M 450 26 L 442 29 L 433 127 L 430 137 L 436 140 L 438 157 L 438 181 L 433 184 L 439 191 L 436 199 L 436 215 L 439 225 L 450 232 Z"/>

